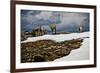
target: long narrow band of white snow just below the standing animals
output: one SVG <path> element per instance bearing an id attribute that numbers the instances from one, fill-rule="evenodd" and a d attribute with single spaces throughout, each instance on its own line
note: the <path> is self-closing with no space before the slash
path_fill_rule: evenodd
<path id="1" fill-rule="evenodd" d="M 83 38 L 83 37 L 89 37 L 89 32 L 29 37 L 27 38 L 27 40 L 22 41 L 21 43 L 33 42 L 37 40 L 55 40 L 56 42 L 61 42 L 65 40 L 72 40 L 72 39 Z"/>

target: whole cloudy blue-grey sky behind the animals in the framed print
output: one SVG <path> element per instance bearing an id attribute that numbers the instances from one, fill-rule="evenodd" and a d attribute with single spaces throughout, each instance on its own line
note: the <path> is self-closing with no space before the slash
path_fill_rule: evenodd
<path id="1" fill-rule="evenodd" d="M 41 25 L 51 32 L 51 24 L 56 25 L 57 32 L 77 32 L 80 26 L 84 31 L 89 31 L 89 17 L 89 13 L 21 10 L 21 31 L 31 32 Z"/>

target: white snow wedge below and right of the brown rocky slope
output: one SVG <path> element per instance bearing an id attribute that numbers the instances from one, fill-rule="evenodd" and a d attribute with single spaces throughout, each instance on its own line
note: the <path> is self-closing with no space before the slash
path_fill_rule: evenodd
<path id="1" fill-rule="evenodd" d="M 89 38 L 84 38 L 82 46 L 78 49 L 72 50 L 68 56 L 54 60 L 58 61 L 75 61 L 75 60 L 88 60 L 89 59 Z"/>

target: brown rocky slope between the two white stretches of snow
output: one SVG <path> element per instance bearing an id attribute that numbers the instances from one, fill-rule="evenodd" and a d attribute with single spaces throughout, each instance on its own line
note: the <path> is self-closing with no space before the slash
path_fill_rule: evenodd
<path id="1" fill-rule="evenodd" d="M 83 39 L 73 39 L 63 42 L 53 40 L 38 40 L 21 43 L 21 63 L 47 62 L 67 56 L 71 50 L 78 49 Z"/>

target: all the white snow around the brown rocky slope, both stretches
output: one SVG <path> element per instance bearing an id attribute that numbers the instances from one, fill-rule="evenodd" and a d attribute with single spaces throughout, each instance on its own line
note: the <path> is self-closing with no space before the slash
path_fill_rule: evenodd
<path id="1" fill-rule="evenodd" d="M 33 42 L 37 40 L 55 40 L 57 42 L 65 41 L 65 40 L 72 40 L 82 38 L 82 46 L 78 49 L 72 50 L 68 56 L 64 56 L 62 58 L 54 60 L 56 61 L 72 61 L 72 60 L 88 60 L 89 59 L 89 50 L 90 50 L 90 39 L 89 39 L 89 32 L 83 33 L 71 33 L 71 34 L 59 34 L 59 35 L 43 35 L 39 37 L 30 37 L 22 43 L 25 42 Z"/>

